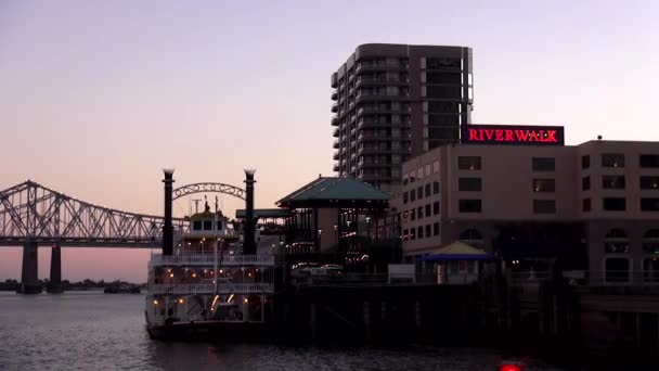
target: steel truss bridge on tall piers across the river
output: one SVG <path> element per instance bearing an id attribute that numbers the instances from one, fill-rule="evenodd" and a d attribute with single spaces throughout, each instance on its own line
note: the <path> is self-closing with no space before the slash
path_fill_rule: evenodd
<path id="1" fill-rule="evenodd" d="M 224 193 L 245 200 L 245 190 L 224 183 L 194 183 L 175 189 L 177 200 L 194 193 Z M 190 223 L 172 218 L 173 233 Z M 61 247 L 151 248 L 163 243 L 163 216 L 129 213 L 86 202 L 27 180 L 0 191 L 0 246 L 23 246 L 21 292 L 41 292 L 38 247 L 52 246 L 49 292 L 61 292 Z"/>

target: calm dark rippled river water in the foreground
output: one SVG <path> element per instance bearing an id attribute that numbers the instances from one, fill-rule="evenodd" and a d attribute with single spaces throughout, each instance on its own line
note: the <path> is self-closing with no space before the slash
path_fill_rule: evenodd
<path id="1" fill-rule="evenodd" d="M 0 293 L 0 370 L 496 370 L 494 350 L 161 343 L 143 295 Z M 528 361 L 525 371 L 559 370 Z"/>

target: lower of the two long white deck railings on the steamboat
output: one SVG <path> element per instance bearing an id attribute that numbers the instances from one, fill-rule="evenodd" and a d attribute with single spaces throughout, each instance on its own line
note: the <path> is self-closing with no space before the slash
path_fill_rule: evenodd
<path id="1" fill-rule="evenodd" d="M 212 283 L 171 283 L 152 284 L 150 294 L 212 294 Z M 219 294 L 260 294 L 274 293 L 274 284 L 271 282 L 240 282 L 218 283 Z"/>

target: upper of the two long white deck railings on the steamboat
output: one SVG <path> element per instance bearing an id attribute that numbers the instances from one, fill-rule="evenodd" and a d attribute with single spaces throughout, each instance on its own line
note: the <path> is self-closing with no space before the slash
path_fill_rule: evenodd
<path id="1" fill-rule="evenodd" d="M 208 266 L 215 264 L 215 255 L 154 255 L 150 261 L 152 267 L 157 266 Z M 274 266 L 274 255 L 223 255 L 218 257 L 218 265 L 225 266 Z"/>

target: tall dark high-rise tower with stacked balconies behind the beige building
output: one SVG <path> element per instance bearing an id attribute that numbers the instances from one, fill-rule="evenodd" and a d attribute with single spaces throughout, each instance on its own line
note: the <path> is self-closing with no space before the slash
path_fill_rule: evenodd
<path id="1" fill-rule="evenodd" d="M 401 164 L 470 124 L 471 49 L 367 43 L 332 75 L 334 170 L 397 192 Z"/>

